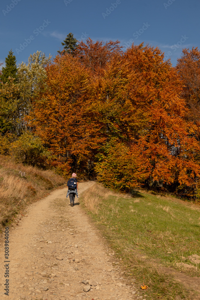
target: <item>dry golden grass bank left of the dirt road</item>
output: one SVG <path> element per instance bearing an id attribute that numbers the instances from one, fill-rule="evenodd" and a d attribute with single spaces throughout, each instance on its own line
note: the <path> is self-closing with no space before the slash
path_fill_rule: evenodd
<path id="1" fill-rule="evenodd" d="M 19 175 L 25 172 L 25 178 Z M 16 164 L 6 156 L 0 155 L 0 233 L 2 227 L 13 220 L 33 201 L 49 193 L 65 180 L 51 170 Z"/>

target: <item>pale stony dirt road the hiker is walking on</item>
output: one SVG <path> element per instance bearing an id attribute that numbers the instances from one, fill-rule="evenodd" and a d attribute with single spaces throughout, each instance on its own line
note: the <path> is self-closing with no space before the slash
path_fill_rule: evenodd
<path id="1" fill-rule="evenodd" d="M 92 184 L 79 183 L 79 195 Z M 126 284 L 120 268 L 113 267 L 114 253 L 78 199 L 71 207 L 66 193 L 67 188 L 55 190 L 31 205 L 10 230 L 9 296 L 4 295 L 1 245 L 0 299 L 144 299 L 134 284 Z"/>

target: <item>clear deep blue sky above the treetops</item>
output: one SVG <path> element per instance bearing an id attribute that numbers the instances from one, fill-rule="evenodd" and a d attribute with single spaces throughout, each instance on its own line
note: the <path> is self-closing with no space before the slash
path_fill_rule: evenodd
<path id="1" fill-rule="evenodd" d="M 158 46 L 176 65 L 183 48 L 200 47 L 199 0 L 1 0 L 0 62 L 17 64 L 41 50 L 55 57 L 69 32 L 79 41 Z"/>

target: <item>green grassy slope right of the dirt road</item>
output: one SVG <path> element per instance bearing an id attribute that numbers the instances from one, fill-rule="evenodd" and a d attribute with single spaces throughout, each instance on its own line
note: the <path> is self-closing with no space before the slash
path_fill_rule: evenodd
<path id="1" fill-rule="evenodd" d="M 127 279 L 148 299 L 192 299 L 193 291 L 176 281 L 179 272 L 200 275 L 199 264 L 190 261 L 200 254 L 197 205 L 176 198 L 137 192 L 115 194 L 99 184 L 81 197 L 97 226 L 103 229 Z M 187 263 L 190 268 L 185 268 Z M 170 274 L 175 271 L 174 277 Z M 178 278 L 178 277 L 177 277 Z M 135 279 L 135 280 L 134 280 Z M 140 285 L 148 289 L 139 292 Z"/>

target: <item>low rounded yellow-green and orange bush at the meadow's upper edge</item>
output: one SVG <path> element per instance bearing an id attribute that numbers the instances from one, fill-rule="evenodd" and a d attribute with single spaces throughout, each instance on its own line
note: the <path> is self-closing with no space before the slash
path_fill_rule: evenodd
<path id="1" fill-rule="evenodd" d="M 145 164 L 141 166 L 141 158 L 137 146 L 127 147 L 123 143 L 112 140 L 98 154 L 95 164 L 97 180 L 105 187 L 121 192 L 130 192 L 140 186 L 145 179 Z M 144 162 L 144 159 L 143 159 Z"/>

